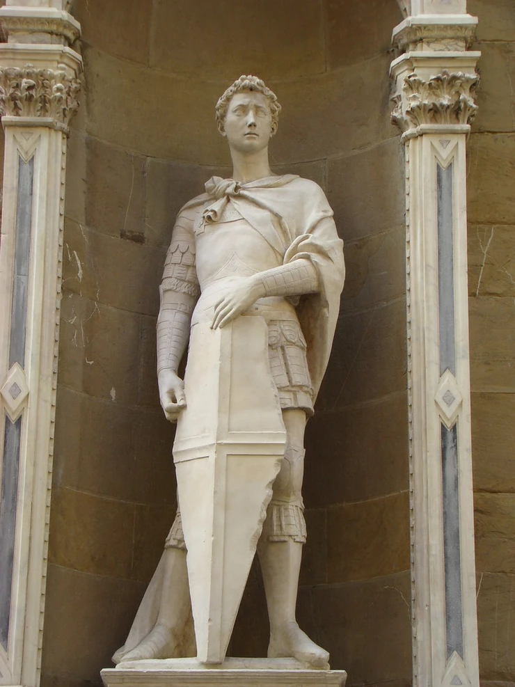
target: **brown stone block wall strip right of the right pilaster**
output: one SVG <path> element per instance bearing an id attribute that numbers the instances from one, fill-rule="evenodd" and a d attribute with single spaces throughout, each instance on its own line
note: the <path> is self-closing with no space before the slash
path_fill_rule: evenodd
<path id="1" fill-rule="evenodd" d="M 515 4 L 479 17 L 479 114 L 468 143 L 468 287 L 482 684 L 515 682 Z"/>

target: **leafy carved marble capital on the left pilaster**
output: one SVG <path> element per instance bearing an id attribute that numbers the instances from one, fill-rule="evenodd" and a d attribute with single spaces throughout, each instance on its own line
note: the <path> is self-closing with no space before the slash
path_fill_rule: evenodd
<path id="1" fill-rule="evenodd" d="M 46 118 L 56 129 L 68 132 L 68 123 L 79 107 L 81 87 L 77 77 L 61 70 L 0 68 L 0 113 L 12 118 Z"/>

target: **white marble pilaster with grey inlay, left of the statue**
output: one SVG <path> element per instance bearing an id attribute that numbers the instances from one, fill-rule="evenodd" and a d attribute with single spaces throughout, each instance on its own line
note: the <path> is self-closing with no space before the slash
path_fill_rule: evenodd
<path id="1" fill-rule="evenodd" d="M 81 71 L 69 45 L 79 24 L 57 4 L 0 9 L 0 684 L 26 687 L 40 675 L 66 141 Z"/>

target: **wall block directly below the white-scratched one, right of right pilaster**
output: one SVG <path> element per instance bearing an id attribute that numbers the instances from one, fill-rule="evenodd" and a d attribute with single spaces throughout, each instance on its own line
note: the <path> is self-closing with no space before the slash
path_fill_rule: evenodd
<path id="1" fill-rule="evenodd" d="M 515 390 L 512 298 L 470 298 L 470 381 L 474 391 Z"/>

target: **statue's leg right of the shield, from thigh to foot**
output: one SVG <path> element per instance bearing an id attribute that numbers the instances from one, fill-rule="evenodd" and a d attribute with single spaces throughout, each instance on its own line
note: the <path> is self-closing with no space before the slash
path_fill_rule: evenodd
<path id="1" fill-rule="evenodd" d="M 270 621 L 268 656 L 292 656 L 310 668 L 328 669 L 328 652 L 310 640 L 295 617 L 302 546 L 306 541 L 301 496 L 306 413 L 287 409 L 283 420 L 287 432 L 285 457 L 258 544 Z"/>

